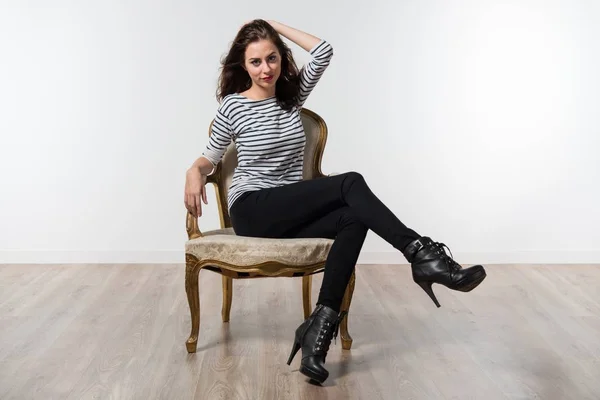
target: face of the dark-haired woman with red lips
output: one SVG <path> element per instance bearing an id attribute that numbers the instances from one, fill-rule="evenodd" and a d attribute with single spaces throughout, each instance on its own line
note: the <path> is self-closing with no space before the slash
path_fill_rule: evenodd
<path id="1" fill-rule="evenodd" d="M 270 40 L 250 43 L 246 47 L 244 68 L 253 85 L 266 90 L 274 89 L 281 74 L 281 55 L 277 46 Z"/>

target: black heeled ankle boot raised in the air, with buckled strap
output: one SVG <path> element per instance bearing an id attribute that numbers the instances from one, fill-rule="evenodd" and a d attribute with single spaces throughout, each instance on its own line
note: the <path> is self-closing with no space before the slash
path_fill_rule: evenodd
<path id="1" fill-rule="evenodd" d="M 452 259 L 452 252 L 450 256 L 446 254 L 444 247 L 448 248 L 445 244 L 434 242 L 424 236 L 411 242 L 403 252 L 404 257 L 411 263 L 413 280 L 438 307 L 440 303 L 431 289 L 433 283 L 442 284 L 449 289 L 469 292 L 486 277 L 483 266 L 475 265 L 463 269 Z"/>

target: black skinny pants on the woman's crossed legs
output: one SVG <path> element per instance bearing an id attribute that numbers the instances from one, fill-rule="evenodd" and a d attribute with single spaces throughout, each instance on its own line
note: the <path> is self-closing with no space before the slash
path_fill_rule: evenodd
<path id="1" fill-rule="evenodd" d="M 337 312 L 369 229 L 400 251 L 421 237 L 373 194 L 357 172 L 246 192 L 230 214 L 240 236 L 335 239 L 317 304 Z"/>

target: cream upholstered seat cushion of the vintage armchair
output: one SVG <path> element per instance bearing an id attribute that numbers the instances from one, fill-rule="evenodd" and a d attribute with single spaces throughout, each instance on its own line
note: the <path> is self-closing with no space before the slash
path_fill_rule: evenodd
<path id="1" fill-rule="evenodd" d="M 290 266 L 307 266 L 325 262 L 333 239 L 269 239 L 238 236 L 233 228 L 202 232 L 203 237 L 190 239 L 185 251 L 199 260 L 215 260 L 238 267 L 265 262 Z"/>

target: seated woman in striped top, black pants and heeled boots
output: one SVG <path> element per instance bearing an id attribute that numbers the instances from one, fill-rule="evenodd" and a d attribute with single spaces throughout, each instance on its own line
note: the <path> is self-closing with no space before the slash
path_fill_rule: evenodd
<path id="1" fill-rule="evenodd" d="M 298 71 L 280 35 L 309 52 Z M 485 278 L 481 265 L 463 269 L 443 243 L 406 227 L 356 172 L 302 180 L 305 136 L 300 109 L 333 56 L 331 45 L 275 21 L 255 20 L 238 32 L 223 61 L 217 110 L 209 143 L 186 177 L 185 205 L 202 215 L 206 176 L 235 142 L 238 167 L 228 208 L 238 235 L 268 238 L 331 238 L 317 306 L 295 332 L 288 359 L 302 349 L 300 372 L 322 383 L 340 306 L 367 231 L 402 252 L 414 281 L 440 307 L 433 283 L 470 291 Z"/>

